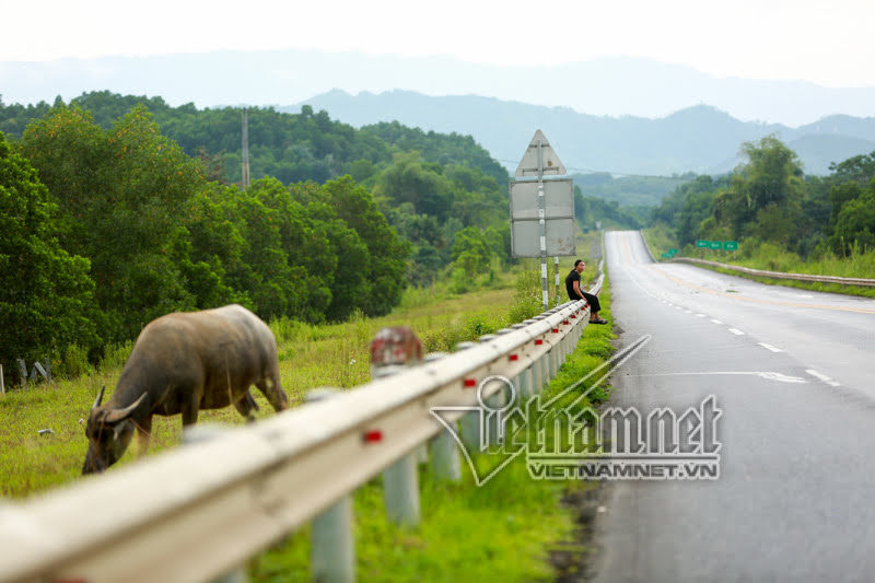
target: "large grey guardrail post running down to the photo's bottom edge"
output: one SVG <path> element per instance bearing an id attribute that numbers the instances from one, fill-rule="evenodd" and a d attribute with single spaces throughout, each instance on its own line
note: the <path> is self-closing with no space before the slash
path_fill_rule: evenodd
<path id="1" fill-rule="evenodd" d="M 334 388 L 307 392 L 305 400 L 313 403 L 331 398 Z M 347 494 L 313 518 L 311 528 L 310 569 L 319 583 L 352 583 L 355 581 L 355 540 L 352 530 L 352 495 Z"/>

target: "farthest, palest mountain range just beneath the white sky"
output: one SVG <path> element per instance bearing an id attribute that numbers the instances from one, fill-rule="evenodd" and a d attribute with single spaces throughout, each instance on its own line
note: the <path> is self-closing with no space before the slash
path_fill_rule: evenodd
<path id="1" fill-rule="evenodd" d="M 464 18 L 464 16 L 460 16 Z M 450 57 L 316 50 L 230 50 L 48 62 L 0 62 L 5 103 L 69 101 L 84 92 L 160 95 L 171 105 L 289 105 L 338 88 L 425 95 L 482 95 L 594 116 L 665 117 L 710 104 L 742 120 L 796 127 L 828 115 L 875 116 L 875 88 L 718 78 L 633 57 L 500 67 Z"/>

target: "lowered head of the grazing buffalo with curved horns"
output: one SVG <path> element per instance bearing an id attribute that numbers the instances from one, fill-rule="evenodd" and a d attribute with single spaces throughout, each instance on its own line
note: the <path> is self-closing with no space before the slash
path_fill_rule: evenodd
<path id="1" fill-rule="evenodd" d="M 130 416 L 145 398 L 143 393 L 140 398 L 122 409 L 101 407 L 105 388 L 101 387 L 85 425 L 89 453 L 85 455 L 82 474 L 103 471 L 125 454 L 136 429 Z"/>

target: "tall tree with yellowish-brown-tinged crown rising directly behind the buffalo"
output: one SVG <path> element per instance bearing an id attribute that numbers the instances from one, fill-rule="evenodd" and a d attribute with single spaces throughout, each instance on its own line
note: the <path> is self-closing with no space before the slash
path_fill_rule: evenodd
<path id="1" fill-rule="evenodd" d="M 188 200 L 205 180 L 144 108 L 104 131 L 82 109 L 58 107 L 27 128 L 22 147 L 60 205 L 65 248 L 91 260 L 108 340 L 196 307 L 174 252 Z"/>

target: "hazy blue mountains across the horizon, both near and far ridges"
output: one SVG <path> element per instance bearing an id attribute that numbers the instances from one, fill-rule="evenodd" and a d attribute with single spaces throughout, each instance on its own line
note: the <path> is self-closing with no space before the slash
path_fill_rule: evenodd
<path id="1" fill-rule="evenodd" d="M 283 107 L 296 113 L 310 103 L 359 126 L 398 119 L 470 133 L 512 167 L 537 128 L 565 165 L 614 173 L 725 172 L 742 142 L 768 133 L 813 174 L 875 150 L 875 118 L 866 117 L 875 116 L 875 88 L 715 78 L 631 57 L 498 67 L 288 49 L 0 62 L 7 104 L 102 90 L 197 107 L 296 104 Z"/>

